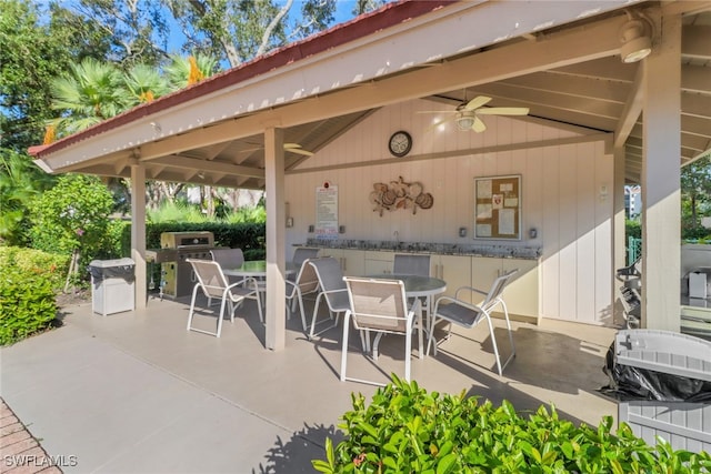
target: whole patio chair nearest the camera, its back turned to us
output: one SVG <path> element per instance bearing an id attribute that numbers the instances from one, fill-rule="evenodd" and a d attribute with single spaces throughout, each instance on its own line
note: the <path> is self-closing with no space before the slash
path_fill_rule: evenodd
<path id="1" fill-rule="evenodd" d="M 350 323 L 361 331 L 361 343 L 364 350 L 371 352 L 370 333 L 377 333 L 372 343 L 372 357 L 378 360 L 378 345 L 384 334 L 404 335 L 404 379 L 410 381 L 412 332 L 422 327 L 422 310 L 420 301 L 415 300 L 408 309 L 404 283 L 400 280 L 382 280 L 346 276 L 344 279 L 350 307 L 343 319 L 343 349 L 341 353 L 341 381 L 354 381 L 381 385 L 362 379 L 349 377 L 348 366 L 348 335 Z M 415 321 L 417 316 L 417 321 Z M 419 356 L 422 356 L 422 331 L 419 334 Z"/>

